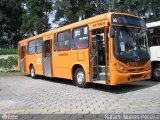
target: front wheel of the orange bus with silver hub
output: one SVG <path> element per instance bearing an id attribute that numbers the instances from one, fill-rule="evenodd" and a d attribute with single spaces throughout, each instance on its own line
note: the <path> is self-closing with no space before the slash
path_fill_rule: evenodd
<path id="1" fill-rule="evenodd" d="M 80 88 L 87 87 L 86 76 L 84 70 L 81 67 L 76 69 L 74 78 L 75 78 L 75 83 L 78 87 Z"/>

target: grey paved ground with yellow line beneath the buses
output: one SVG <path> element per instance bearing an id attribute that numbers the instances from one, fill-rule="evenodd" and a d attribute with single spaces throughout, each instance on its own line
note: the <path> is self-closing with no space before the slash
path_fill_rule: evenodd
<path id="1" fill-rule="evenodd" d="M 4 113 L 160 114 L 160 82 L 147 80 L 115 87 L 92 84 L 85 89 L 69 80 L 0 77 L 0 114 Z"/>

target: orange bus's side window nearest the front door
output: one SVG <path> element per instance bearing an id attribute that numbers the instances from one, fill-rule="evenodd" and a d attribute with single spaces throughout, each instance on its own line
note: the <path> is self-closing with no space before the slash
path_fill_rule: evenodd
<path id="1" fill-rule="evenodd" d="M 88 48 L 88 27 L 80 27 L 73 30 L 73 49 Z"/>

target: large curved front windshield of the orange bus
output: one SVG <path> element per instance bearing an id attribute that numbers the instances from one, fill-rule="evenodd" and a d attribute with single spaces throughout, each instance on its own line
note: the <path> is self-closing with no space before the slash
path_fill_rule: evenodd
<path id="1" fill-rule="evenodd" d="M 146 61 L 149 59 L 148 37 L 145 29 L 114 26 L 115 56 L 121 61 Z"/>

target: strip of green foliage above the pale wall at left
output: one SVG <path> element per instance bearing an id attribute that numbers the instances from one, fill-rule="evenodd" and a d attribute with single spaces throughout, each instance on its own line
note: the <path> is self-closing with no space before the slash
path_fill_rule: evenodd
<path id="1" fill-rule="evenodd" d="M 15 48 L 0 48 L 0 55 L 13 55 L 13 54 L 18 54 L 18 50 Z"/>

